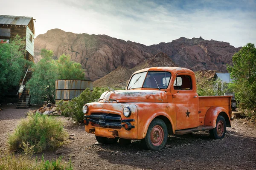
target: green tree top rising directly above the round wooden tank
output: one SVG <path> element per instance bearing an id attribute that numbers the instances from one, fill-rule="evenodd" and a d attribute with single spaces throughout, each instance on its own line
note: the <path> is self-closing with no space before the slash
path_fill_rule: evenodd
<path id="1" fill-rule="evenodd" d="M 84 79 L 81 64 L 71 61 L 70 56 L 62 54 L 57 62 L 59 79 Z"/>

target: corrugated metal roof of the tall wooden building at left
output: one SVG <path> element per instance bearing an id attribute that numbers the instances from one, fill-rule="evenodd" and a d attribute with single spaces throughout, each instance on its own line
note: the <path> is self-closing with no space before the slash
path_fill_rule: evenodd
<path id="1" fill-rule="evenodd" d="M 0 24 L 27 26 L 33 17 L 0 15 Z"/>

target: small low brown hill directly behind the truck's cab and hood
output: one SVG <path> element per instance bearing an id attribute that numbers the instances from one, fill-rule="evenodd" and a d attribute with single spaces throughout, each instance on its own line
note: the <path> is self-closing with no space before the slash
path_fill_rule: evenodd
<path id="1" fill-rule="evenodd" d="M 178 67 L 167 54 L 159 52 L 152 57 L 141 59 L 134 68 L 119 66 L 116 70 L 93 82 L 93 87 L 125 88 L 131 75 L 138 70 L 148 67 Z"/>

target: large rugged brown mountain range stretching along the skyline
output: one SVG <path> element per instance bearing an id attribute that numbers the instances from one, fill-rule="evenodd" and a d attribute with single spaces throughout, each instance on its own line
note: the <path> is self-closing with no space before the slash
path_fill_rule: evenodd
<path id="1" fill-rule="evenodd" d="M 228 42 L 209 41 L 201 37 L 181 37 L 172 42 L 147 46 L 107 35 L 74 34 L 60 29 L 49 30 L 35 38 L 36 62 L 41 59 L 42 48 L 53 50 L 55 58 L 61 54 L 70 55 L 74 61 L 81 63 L 86 78 L 91 80 L 102 78 L 119 66 L 132 69 L 161 51 L 180 67 L 193 71 L 224 72 L 226 64 L 232 63 L 233 54 L 240 49 Z"/>

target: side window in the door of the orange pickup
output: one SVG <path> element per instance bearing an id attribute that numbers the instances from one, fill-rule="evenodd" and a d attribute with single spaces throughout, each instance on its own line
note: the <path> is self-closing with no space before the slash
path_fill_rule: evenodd
<path id="1" fill-rule="evenodd" d="M 180 75 L 175 78 L 173 84 L 175 90 L 192 90 L 192 80 L 190 76 Z"/>

